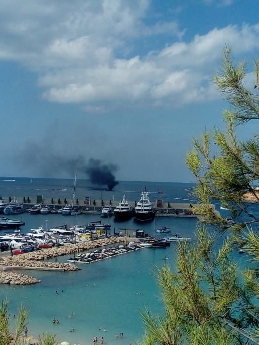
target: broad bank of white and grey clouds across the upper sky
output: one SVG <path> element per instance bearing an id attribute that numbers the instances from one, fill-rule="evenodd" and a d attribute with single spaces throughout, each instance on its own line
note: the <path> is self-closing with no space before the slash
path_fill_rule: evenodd
<path id="1" fill-rule="evenodd" d="M 213 99 L 209 76 L 224 45 L 237 55 L 259 47 L 259 24 L 214 28 L 185 42 L 177 21 L 147 24 L 149 0 L 26 0 L 15 11 L 19 3 L 0 0 L 0 59 L 37 71 L 46 100 L 79 103 L 92 113 L 104 111 L 102 102 L 107 108 Z M 165 34 L 160 50 L 142 47 Z"/>

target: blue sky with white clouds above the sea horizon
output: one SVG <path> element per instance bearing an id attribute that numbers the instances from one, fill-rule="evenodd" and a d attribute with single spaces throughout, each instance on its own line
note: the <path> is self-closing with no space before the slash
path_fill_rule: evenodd
<path id="1" fill-rule="evenodd" d="M 211 78 L 226 44 L 253 84 L 257 0 L 0 0 L 0 9 L 2 176 L 69 177 L 49 156 L 81 155 L 117 164 L 119 180 L 194 181 L 192 138 L 222 126 Z"/>

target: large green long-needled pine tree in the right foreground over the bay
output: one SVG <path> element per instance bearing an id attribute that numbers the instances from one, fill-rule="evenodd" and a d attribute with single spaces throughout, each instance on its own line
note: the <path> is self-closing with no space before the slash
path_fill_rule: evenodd
<path id="1" fill-rule="evenodd" d="M 259 218 L 251 211 L 259 202 L 259 135 L 246 141 L 236 135 L 237 126 L 259 119 L 259 60 L 254 66 L 255 84 L 248 88 L 246 64 L 234 65 L 225 48 L 223 67 L 215 77 L 230 104 L 224 111 L 224 128 L 194 139 L 194 149 L 186 157 L 197 180 L 192 194 L 198 204 L 192 204 L 192 211 L 201 224 L 191 245 L 177 245 L 175 272 L 167 266 L 158 270 L 164 313 L 158 318 L 150 311 L 142 314 L 142 345 L 259 344 Z M 212 145 L 216 154 L 211 153 Z M 253 201 L 244 203 L 245 195 Z M 233 223 L 215 211 L 213 200 L 229 209 Z M 244 269 L 231 259 L 238 248 L 247 254 Z"/>

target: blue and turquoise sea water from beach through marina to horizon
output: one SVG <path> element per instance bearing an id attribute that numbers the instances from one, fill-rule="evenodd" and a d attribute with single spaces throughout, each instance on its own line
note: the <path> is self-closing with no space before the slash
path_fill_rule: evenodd
<path id="1" fill-rule="evenodd" d="M 18 177 L 0 177 L 0 195 L 10 197 L 36 197 L 38 194 L 46 198 L 70 198 L 73 192 L 72 179 L 47 179 Z M 128 200 L 138 201 L 141 192 L 146 187 L 151 201 L 163 199 L 164 202 L 195 202 L 191 196 L 191 183 L 165 182 L 133 182 L 120 181 L 109 191 L 92 186 L 89 181 L 78 180 L 76 197 L 91 197 L 92 199 L 120 200 L 126 194 Z M 164 193 L 158 193 L 163 191 Z M 101 198 L 102 193 L 102 198 Z M 215 201 L 215 207 L 223 216 L 228 211 L 220 210 L 220 204 Z M 254 207 L 253 212 L 259 209 Z M 32 215 L 22 213 L 10 215 L 12 219 L 25 222 L 22 232 L 43 226 L 52 228 L 55 225 L 78 224 L 85 225 L 91 221 L 100 220 L 95 214 L 81 214 L 77 217 L 59 214 Z M 104 222 L 111 224 L 111 229 L 144 229 L 154 235 L 155 222 L 135 223 L 134 220 L 115 222 L 113 217 Z M 171 233 L 178 233 L 193 239 L 197 226 L 196 218 L 156 217 L 156 227 L 166 226 Z M 7 230 L 1 233 L 8 232 Z M 223 236 L 219 244 L 223 242 Z M 165 255 L 168 260 L 163 260 Z M 236 260 L 242 258 L 236 255 Z M 52 261 L 66 262 L 69 256 L 53 258 Z M 149 309 L 154 315 L 163 311 L 160 290 L 156 284 L 157 268 L 166 264 L 175 268 L 175 245 L 166 249 L 144 248 L 109 260 L 93 264 L 78 264 L 76 272 L 26 271 L 21 273 L 36 277 L 42 282 L 30 286 L 13 286 L 0 284 L 1 299 L 9 301 L 9 312 L 12 327 L 21 304 L 29 311 L 28 335 L 38 337 L 43 332 L 57 335 L 59 342 L 90 345 L 93 338 L 104 337 L 105 345 L 133 345 L 144 334 L 141 312 Z M 56 293 L 57 291 L 57 293 Z M 53 324 L 56 318 L 59 324 Z M 74 329 L 71 332 L 71 329 Z M 123 333 L 123 338 L 120 334 Z"/>

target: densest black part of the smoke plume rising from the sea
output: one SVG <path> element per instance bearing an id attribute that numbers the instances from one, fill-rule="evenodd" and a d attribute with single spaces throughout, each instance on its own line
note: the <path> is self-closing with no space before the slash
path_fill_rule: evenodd
<path id="1" fill-rule="evenodd" d="M 103 164 L 99 159 L 89 159 L 85 172 L 90 181 L 96 185 L 106 184 L 112 190 L 119 182 L 116 181 L 114 173 L 118 167 L 114 164 Z"/>

